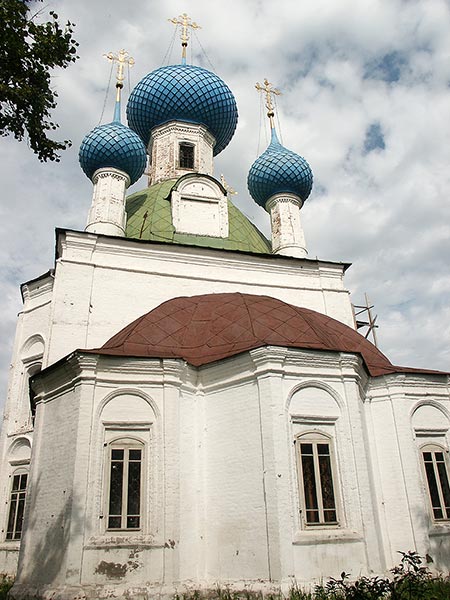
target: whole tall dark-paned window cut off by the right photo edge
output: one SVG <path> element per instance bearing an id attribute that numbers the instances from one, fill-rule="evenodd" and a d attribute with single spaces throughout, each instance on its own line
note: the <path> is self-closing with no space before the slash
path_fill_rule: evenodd
<path id="1" fill-rule="evenodd" d="M 422 446 L 422 463 L 433 519 L 450 519 L 448 450 L 437 444 Z"/>

